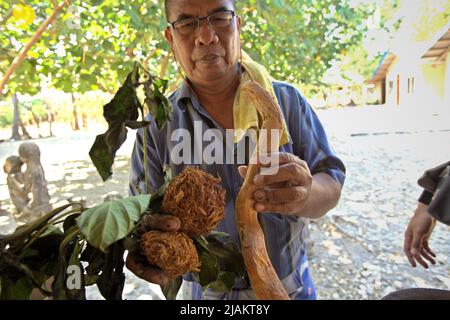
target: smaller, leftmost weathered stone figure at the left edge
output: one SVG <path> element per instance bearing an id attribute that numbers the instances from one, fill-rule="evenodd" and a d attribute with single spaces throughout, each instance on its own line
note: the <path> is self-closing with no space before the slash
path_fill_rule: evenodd
<path id="1" fill-rule="evenodd" d="M 24 174 L 22 172 L 23 162 L 18 156 L 10 156 L 3 165 L 3 171 L 7 174 L 9 196 L 15 209 L 14 216 L 20 216 L 27 207 L 30 198 L 24 189 Z"/>

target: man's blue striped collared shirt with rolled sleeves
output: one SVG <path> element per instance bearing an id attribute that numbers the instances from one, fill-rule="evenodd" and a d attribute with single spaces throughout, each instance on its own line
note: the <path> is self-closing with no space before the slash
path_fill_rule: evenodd
<path id="1" fill-rule="evenodd" d="M 314 110 L 295 87 L 283 82 L 273 82 L 273 87 L 292 140 L 292 143 L 281 146 L 280 152 L 292 153 L 306 161 L 311 174 L 326 173 L 343 185 L 345 166 L 332 150 Z M 230 151 L 230 148 L 234 148 L 235 154 L 238 154 L 236 150 L 239 148 L 239 144 L 232 143 L 230 146 L 225 141 L 223 137 L 226 136 L 226 131 L 200 105 L 195 94 L 187 85 L 184 84 L 173 93 L 169 100 L 173 105 L 172 121 L 161 130 L 158 130 L 153 122 L 148 128 L 141 129 L 137 133 L 131 159 L 130 194 L 156 191 L 164 182 L 164 165 L 170 164 L 174 176 L 183 171 L 186 164 L 174 164 L 171 161 L 171 152 L 178 143 L 183 143 L 179 134 L 180 129 L 185 133 L 189 132 L 192 138 L 188 142 L 190 150 L 182 156 L 184 159 L 186 156 L 191 158 L 187 165 L 196 165 L 221 178 L 222 186 L 226 189 L 225 218 L 217 230 L 230 234 L 231 238 L 239 245 L 235 201 L 242 187 L 243 179 L 239 175 L 238 167 L 245 164 L 248 158 L 240 159 L 243 161 L 242 163 L 239 163 L 239 159 L 235 159 L 233 164 L 205 163 L 202 152 L 212 141 L 204 141 L 203 134 L 206 130 L 215 129 L 213 131 L 214 139 L 223 139 L 226 152 Z M 147 119 L 151 120 L 150 116 Z M 149 190 L 146 190 L 143 166 L 143 132 L 146 133 L 147 140 Z M 305 237 L 308 232 L 308 220 L 273 213 L 260 215 L 260 223 L 265 234 L 270 260 L 288 294 L 292 299 L 315 299 L 315 289 L 308 270 L 306 255 Z M 189 275 L 186 275 L 184 280 L 180 291 L 183 298 L 254 298 L 251 290 L 245 284 L 236 284 L 236 290 L 229 294 L 218 294 L 211 290 L 202 291 L 197 283 L 192 282 L 193 278 Z"/>

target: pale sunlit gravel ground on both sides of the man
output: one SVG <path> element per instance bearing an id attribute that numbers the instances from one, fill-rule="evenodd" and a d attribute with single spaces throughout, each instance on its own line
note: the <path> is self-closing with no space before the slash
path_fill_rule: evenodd
<path id="1" fill-rule="evenodd" d="M 433 233 L 431 248 L 438 263 L 429 270 L 410 267 L 402 252 L 403 233 L 420 194 L 418 177 L 450 159 L 448 111 L 372 107 L 318 114 L 347 167 L 340 204 L 311 222 L 310 267 L 318 298 L 379 299 L 408 287 L 450 289 L 449 227 L 438 224 Z M 92 205 L 109 193 L 126 194 L 132 140 L 119 151 L 115 175 L 107 183 L 87 158 L 92 134 L 36 140 L 54 205 L 73 197 Z M 0 144 L 1 163 L 18 145 Z M 0 175 L 1 208 L 10 210 L 5 183 Z M 0 233 L 13 228 L 11 217 L 0 212 Z M 162 298 L 157 287 L 128 271 L 126 279 L 125 299 Z M 87 295 L 101 298 L 95 288 Z"/>

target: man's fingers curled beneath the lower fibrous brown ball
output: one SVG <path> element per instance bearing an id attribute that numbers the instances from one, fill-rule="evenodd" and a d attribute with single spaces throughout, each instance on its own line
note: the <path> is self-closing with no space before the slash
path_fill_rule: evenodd
<path id="1" fill-rule="evenodd" d="M 126 266 L 137 277 L 145 281 L 159 284 L 161 286 L 165 285 L 169 281 L 169 278 L 164 274 L 164 271 L 149 266 L 149 264 L 145 261 L 145 257 L 139 254 L 132 252 L 128 253 Z"/>

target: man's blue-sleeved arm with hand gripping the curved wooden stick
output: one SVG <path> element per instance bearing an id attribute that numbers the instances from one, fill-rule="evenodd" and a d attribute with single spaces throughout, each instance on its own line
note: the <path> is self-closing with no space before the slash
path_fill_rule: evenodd
<path id="1" fill-rule="evenodd" d="M 322 217 L 339 200 L 345 166 L 330 147 L 316 113 L 299 91 L 289 85 L 276 91 L 287 115 L 293 154 L 278 154 L 277 174 L 256 177 L 261 181 L 256 182 L 259 188 L 254 194 L 255 210 Z M 242 176 L 245 171 L 245 167 L 240 168 Z"/>

